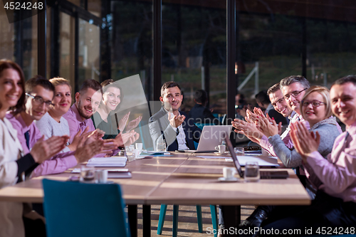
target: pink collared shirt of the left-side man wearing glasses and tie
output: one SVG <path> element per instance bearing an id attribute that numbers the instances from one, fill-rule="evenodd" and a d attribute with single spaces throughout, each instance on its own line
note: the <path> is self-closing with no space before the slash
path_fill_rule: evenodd
<path id="1" fill-rule="evenodd" d="M 17 137 L 21 143 L 23 153 L 28 154 L 34 144 L 42 137 L 40 130 L 36 127 L 35 123 L 27 126 L 21 115 L 13 117 L 11 114 L 6 114 L 6 117 L 11 122 L 15 130 L 17 130 Z M 29 132 L 29 145 L 28 149 L 25 139 L 25 132 Z M 61 152 L 51 157 L 36 167 L 33 170 L 31 177 L 38 177 L 46 174 L 58 174 L 66 171 L 71 167 L 78 164 L 77 159 L 74 157 L 75 152 Z"/>

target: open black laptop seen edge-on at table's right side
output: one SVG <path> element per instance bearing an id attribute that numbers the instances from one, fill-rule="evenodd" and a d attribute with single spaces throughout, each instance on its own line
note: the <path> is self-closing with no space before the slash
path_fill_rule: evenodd
<path id="1" fill-rule="evenodd" d="M 227 149 L 229 149 L 229 152 L 231 154 L 231 157 L 234 161 L 235 167 L 237 169 L 237 172 L 239 173 L 240 177 L 244 177 L 244 172 L 241 169 L 241 165 L 239 163 L 239 160 L 236 157 L 236 154 L 234 152 L 234 147 L 232 147 L 232 144 L 230 142 L 229 137 L 225 138 L 226 141 L 226 146 Z M 260 177 L 261 179 L 287 179 L 289 177 L 289 174 L 286 170 L 282 171 L 260 171 Z"/>

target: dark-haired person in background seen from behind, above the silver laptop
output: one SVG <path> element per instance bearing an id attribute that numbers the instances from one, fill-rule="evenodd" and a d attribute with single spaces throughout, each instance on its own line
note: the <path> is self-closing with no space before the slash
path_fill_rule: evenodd
<path id="1" fill-rule="evenodd" d="M 219 125 L 219 119 L 214 117 L 211 111 L 205 107 L 208 102 L 208 95 L 205 90 L 197 90 L 194 93 L 194 102 L 196 104 L 189 111 L 189 117 L 194 123 L 207 123 Z"/>

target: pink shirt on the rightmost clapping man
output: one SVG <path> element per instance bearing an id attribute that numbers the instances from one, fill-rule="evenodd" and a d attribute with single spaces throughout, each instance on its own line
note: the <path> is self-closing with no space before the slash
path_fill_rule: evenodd
<path id="1" fill-rule="evenodd" d="M 345 139 L 347 132 L 349 135 Z M 356 202 L 356 122 L 335 139 L 328 159 L 319 152 L 312 152 L 303 165 L 315 186 L 318 180 L 323 183 L 319 189 L 343 201 Z"/>

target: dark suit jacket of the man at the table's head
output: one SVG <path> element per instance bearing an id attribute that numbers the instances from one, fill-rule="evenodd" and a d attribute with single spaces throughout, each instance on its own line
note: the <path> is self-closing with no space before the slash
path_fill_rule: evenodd
<path id="1" fill-rule="evenodd" d="M 187 146 L 189 149 L 195 149 L 194 141 L 199 142 L 201 130 L 194 125 L 192 120 L 189 120 L 189 117 L 185 112 L 180 112 L 180 114 L 185 116 L 182 126 Z M 156 147 L 157 142 L 163 142 L 163 139 L 165 139 L 167 151 L 172 152 L 178 149 L 177 132 L 174 131 L 171 125 L 169 125 L 168 114 L 166 110 L 164 110 L 164 107 L 150 117 L 148 126 L 150 127 L 150 135 L 154 147 Z"/>

